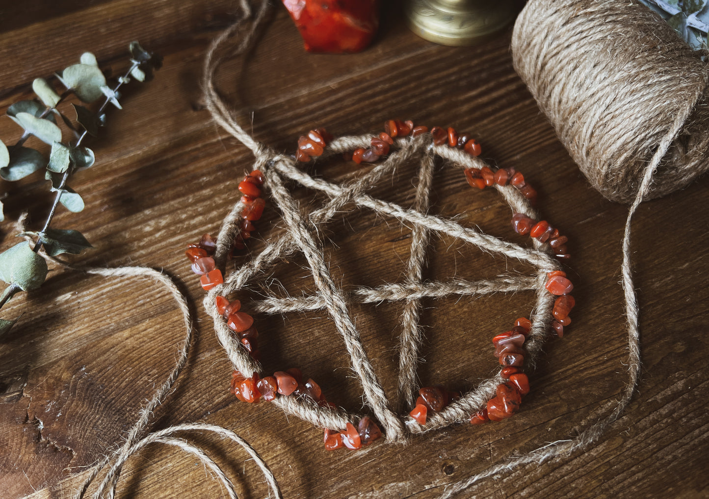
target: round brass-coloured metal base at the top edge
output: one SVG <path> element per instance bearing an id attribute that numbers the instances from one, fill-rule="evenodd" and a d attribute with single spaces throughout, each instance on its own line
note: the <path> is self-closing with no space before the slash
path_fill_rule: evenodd
<path id="1" fill-rule="evenodd" d="M 411 31 L 441 45 L 474 45 L 517 15 L 515 0 L 408 0 Z"/>

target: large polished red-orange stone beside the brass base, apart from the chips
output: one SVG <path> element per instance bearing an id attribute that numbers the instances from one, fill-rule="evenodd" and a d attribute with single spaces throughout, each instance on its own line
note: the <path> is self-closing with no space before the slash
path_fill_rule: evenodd
<path id="1" fill-rule="evenodd" d="M 313 53 L 364 50 L 379 26 L 378 0 L 282 0 Z"/>

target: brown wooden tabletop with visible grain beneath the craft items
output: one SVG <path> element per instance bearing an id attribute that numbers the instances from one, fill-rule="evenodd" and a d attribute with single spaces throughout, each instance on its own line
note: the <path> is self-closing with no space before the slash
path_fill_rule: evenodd
<path id="1" fill-rule="evenodd" d="M 213 124 L 199 77 L 208 42 L 233 21 L 235 0 L 94 0 L 90 4 L 4 2 L 0 7 L 0 109 L 31 96 L 33 78 L 78 61 L 85 50 L 101 67 L 125 67 L 130 40 L 164 56 L 146 84 L 130 84 L 123 111 L 88 144 L 96 165 L 70 183 L 84 196 L 79 214 L 60 210 L 52 226 L 77 229 L 94 250 L 86 265 L 162 268 L 182 286 L 196 317 L 189 366 L 155 412 L 154 429 L 207 422 L 233 429 L 272 467 L 286 499 L 435 498 L 449 483 L 568 439 L 605 416 L 627 380 L 627 336 L 620 241 L 627 207 L 603 199 L 557 141 L 510 59 L 510 31 L 473 48 L 448 48 L 413 35 L 401 5 L 386 6 L 381 32 L 357 55 L 309 55 L 284 9 L 276 9 L 255 54 L 228 60 L 218 86 L 259 141 L 291 153 L 301 133 L 326 126 L 335 135 L 381 129 L 385 119 L 470 131 L 493 165 L 524 172 L 540 192 L 540 210 L 568 234 L 576 288 L 574 323 L 550 340 L 530 374 L 532 391 L 509 420 L 467 424 L 379 442 L 362 451 L 323 449 L 322 431 L 268 403 L 247 405 L 228 390 L 230 363 L 201 305 L 203 290 L 184 257 L 187 243 L 216 234 L 235 202 L 252 155 Z M 11 143 L 18 128 L 0 120 Z M 319 171 L 337 181 L 354 163 Z M 408 169 L 407 169 L 408 168 Z M 620 419 L 593 448 L 489 478 L 462 493 L 476 498 L 709 497 L 709 204 L 704 177 L 683 192 L 642 204 L 633 224 L 635 285 L 642 309 L 642 374 Z M 375 190 L 411 203 L 415 172 L 403 168 Z M 462 174 L 437 170 L 431 212 L 523 242 L 509 210 L 489 191 L 473 192 Z M 39 229 L 48 208 L 41 174 L 2 182 L 3 248 L 17 241 L 13 221 L 29 212 Z M 303 202 L 318 199 L 298 191 Z M 278 230 L 267 210 L 253 253 Z M 342 214 L 325 231 L 327 256 L 342 285 L 403 279 L 411 228 L 366 209 Z M 247 257 L 245 257 L 247 258 Z M 425 278 L 490 277 L 525 271 L 447 237 L 435 239 Z M 528 269 L 527 269 L 528 270 Z M 301 256 L 272 270 L 292 295 L 312 289 Z M 246 297 L 248 299 L 248 297 Z M 246 300 L 247 302 L 247 300 Z M 528 314 L 532 295 L 425 300 L 427 338 L 418 371 L 423 385 L 469 389 L 495 372 L 490 338 Z M 393 394 L 401 306 L 352 307 L 374 368 Z M 69 498 L 86 470 L 117 448 L 182 339 L 172 298 L 148 280 L 109 279 L 54 267 L 40 288 L 15 297 L 1 317 L 23 314 L 0 339 L 0 496 Z M 360 412 L 362 394 L 345 347 L 324 312 L 257 315 L 267 372 L 298 366 L 328 400 Z M 201 444 L 244 498 L 267 495 L 255 464 L 227 441 L 184 435 Z M 152 446 L 128 462 L 121 498 L 224 497 L 196 459 Z"/>

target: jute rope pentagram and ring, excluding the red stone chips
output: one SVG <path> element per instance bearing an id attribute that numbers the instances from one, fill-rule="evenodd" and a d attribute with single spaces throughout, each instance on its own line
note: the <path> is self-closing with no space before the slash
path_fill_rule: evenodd
<path id="1" fill-rule="evenodd" d="M 357 138 L 340 138 L 328 146 L 328 153 L 334 155 L 352 148 L 352 143 L 361 142 L 367 146 L 370 136 Z M 356 147 L 356 146 L 355 146 Z M 420 300 L 424 297 L 445 297 L 448 295 L 483 295 L 491 292 L 520 292 L 535 290 L 536 299 L 532 313 L 532 329 L 525 342 L 529 358 L 540 351 L 547 335 L 547 320 L 551 316 L 554 302 L 553 295 L 545 290 L 547 273 L 559 270 L 561 267 L 554 258 L 544 251 L 545 246 L 532 239 L 533 247 L 525 248 L 515 243 L 504 241 L 489 234 L 465 227 L 452 219 L 428 214 L 431 194 L 431 179 L 437 158 L 447 167 L 461 171 L 463 168 L 481 168 L 486 165 L 483 160 L 447 146 L 434 146 L 430 138 L 400 138 L 396 141 L 396 150 L 392 150 L 383 163 L 376 165 L 362 177 L 344 185 L 337 185 L 321 178 L 312 177 L 298 168 L 293 158 L 284 155 L 270 154 L 268 158 L 259 158 L 255 168 L 264 172 L 265 185 L 270 188 L 270 200 L 279 208 L 285 231 L 266 248 L 228 275 L 225 283 L 213 288 L 205 298 L 205 306 L 214 319 L 215 330 L 233 362 L 235 369 L 246 377 L 259 372 L 259 366 L 235 339 L 226 327 L 222 317 L 216 311 L 214 299 L 217 295 L 233 295 L 250 280 L 257 278 L 264 269 L 270 268 L 294 251 L 300 251 L 305 257 L 313 276 L 316 292 L 305 297 L 268 296 L 265 300 L 252 303 L 250 309 L 257 312 L 277 313 L 323 309 L 333 319 L 337 331 L 345 343 L 351 359 L 351 366 L 362 385 L 364 401 L 372 410 L 373 415 L 381 422 L 386 438 L 390 441 L 401 441 L 407 433 L 418 433 L 443 427 L 454 422 L 469 420 L 495 393 L 495 387 L 501 383 L 500 375 L 493 376 L 481 383 L 476 389 L 464 393 L 440 412 L 428 417 L 425 425 L 418 424 L 410 417 L 400 417 L 392 410 L 393 404 L 388 400 L 379 379 L 376 377 L 357 328 L 350 316 L 348 303 L 354 302 L 403 302 L 403 330 L 400 334 L 398 357 L 398 401 L 410 405 L 415 398 L 415 377 L 418 365 L 418 351 L 422 341 L 420 334 L 418 312 Z M 416 160 L 420 163 L 418 184 L 415 187 L 413 207 L 405 208 L 399 204 L 377 199 L 367 194 L 383 177 L 389 176 L 404 161 Z M 309 213 L 303 213 L 286 187 L 289 181 L 296 181 L 303 187 L 308 187 L 324 193 L 328 200 L 322 206 Z M 513 212 L 520 212 L 538 219 L 538 215 L 527 199 L 514 187 L 495 185 Z M 345 292 L 335 285 L 330 275 L 328 262 L 323 256 L 323 242 L 320 241 L 319 229 L 335 214 L 341 212 L 347 204 L 372 209 L 378 214 L 391 216 L 401 222 L 410 224 L 411 254 L 406 265 L 406 276 L 402 283 L 387 283 L 379 287 L 354 287 Z M 242 204 L 237 203 L 230 215 L 238 219 Z M 229 234 L 229 224 L 225 223 L 219 239 Z M 517 258 L 532 265 L 535 274 L 503 275 L 492 280 L 469 281 L 462 279 L 440 281 L 424 281 L 422 278 L 425 265 L 425 251 L 432 234 L 447 234 L 464 243 L 469 243 L 484 249 L 493 255 Z M 218 254 L 216 258 L 223 259 Z M 351 415 L 341 408 L 321 406 L 310 397 L 277 397 L 274 400 L 285 412 L 298 415 L 313 422 L 318 427 L 344 429 L 347 422 L 358 420 L 360 416 Z"/>

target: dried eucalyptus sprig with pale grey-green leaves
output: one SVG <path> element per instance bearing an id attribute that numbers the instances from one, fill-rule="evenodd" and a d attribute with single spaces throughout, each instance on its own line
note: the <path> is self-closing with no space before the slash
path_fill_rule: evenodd
<path id="1" fill-rule="evenodd" d="M 43 228 L 38 232 L 19 234 L 34 238 L 34 246 L 30 248 L 28 243 L 23 241 L 0 253 L 0 280 L 9 284 L 0 295 L 0 307 L 18 291 L 33 290 L 44 283 L 48 268 L 44 258 L 38 255 L 41 248 L 44 248 L 48 255 L 57 256 L 62 253 L 79 254 L 92 247 L 79 231 L 51 229 L 50 223 L 60 203 L 70 212 L 81 212 L 84 209 L 84 200 L 67 185 L 67 180 L 72 173 L 94 164 L 94 151 L 84 147 L 82 143 L 87 135 L 95 137 L 99 126 L 106 123 L 106 106 L 112 104 L 121 109 L 118 102 L 121 94 L 118 89 L 130 82 L 130 79 L 145 81 L 152 75 L 152 70 L 161 65 L 160 57 L 143 50 L 138 42 L 130 43 L 128 50 L 131 56 L 130 67 L 123 76 L 118 77 L 113 87 L 108 86 L 96 57 L 87 52 L 81 56 L 79 64 L 65 68 L 61 75 L 55 75 L 65 87 L 62 94 L 58 94 L 50 82 L 38 78 L 32 84 L 37 99 L 16 102 L 7 109 L 7 115 L 23 128 L 23 133 L 13 146 L 6 147 L 0 141 L 0 177 L 4 180 L 20 180 L 45 168 L 45 179 L 52 182 L 51 192 L 56 192 L 56 195 Z M 102 97 L 104 100 L 96 111 L 80 104 L 72 104 L 76 114 L 74 123 L 57 109 L 57 106 L 72 94 L 84 104 L 91 104 Z M 62 129 L 57 126 L 56 116 L 69 128 L 72 134 L 69 141 L 62 141 Z M 45 158 L 38 150 L 24 146 L 30 136 L 35 136 L 51 146 L 49 158 Z M 3 219 L 0 203 L 0 221 Z M 0 319 L 0 334 L 9 331 L 15 321 L 16 319 Z"/>

